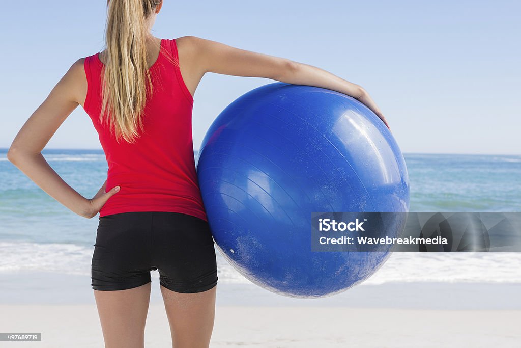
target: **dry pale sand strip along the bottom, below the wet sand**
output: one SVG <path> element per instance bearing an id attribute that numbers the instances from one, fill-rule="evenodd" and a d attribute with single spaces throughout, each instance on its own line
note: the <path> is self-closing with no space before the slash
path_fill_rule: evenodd
<path id="1" fill-rule="evenodd" d="M 42 332 L 13 347 L 103 347 L 94 305 L 1 305 L 3 332 Z M 519 310 L 218 306 L 215 348 L 519 347 Z M 170 347 L 164 308 L 151 304 L 146 347 Z"/>

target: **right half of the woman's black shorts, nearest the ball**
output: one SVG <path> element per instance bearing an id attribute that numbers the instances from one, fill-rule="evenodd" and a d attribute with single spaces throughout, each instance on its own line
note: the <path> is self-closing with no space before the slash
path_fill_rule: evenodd
<path id="1" fill-rule="evenodd" d="M 159 284 L 178 293 L 199 293 L 217 285 L 214 240 L 206 221 L 188 214 L 155 212 L 153 265 Z"/>

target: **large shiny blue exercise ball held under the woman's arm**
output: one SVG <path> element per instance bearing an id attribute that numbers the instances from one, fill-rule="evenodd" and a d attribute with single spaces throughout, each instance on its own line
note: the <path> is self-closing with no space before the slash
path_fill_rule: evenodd
<path id="1" fill-rule="evenodd" d="M 232 102 L 203 139 L 197 177 L 221 254 L 290 297 L 343 292 L 390 255 L 312 251 L 312 212 L 409 209 L 405 161 L 389 129 L 361 102 L 319 87 L 270 83 Z"/>

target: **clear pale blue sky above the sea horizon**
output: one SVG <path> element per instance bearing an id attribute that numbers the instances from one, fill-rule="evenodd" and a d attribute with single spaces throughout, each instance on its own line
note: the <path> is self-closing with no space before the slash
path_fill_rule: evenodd
<path id="1" fill-rule="evenodd" d="M 195 35 L 359 83 L 404 152 L 521 154 L 521 2 L 173 1 L 154 35 Z M 103 50 L 105 1 L 4 2 L 0 147 L 78 58 Z M 230 102 L 269 79 L 207 74 L 194 146 Z M 47 148 L 101 148 L 81 106 Z"/>

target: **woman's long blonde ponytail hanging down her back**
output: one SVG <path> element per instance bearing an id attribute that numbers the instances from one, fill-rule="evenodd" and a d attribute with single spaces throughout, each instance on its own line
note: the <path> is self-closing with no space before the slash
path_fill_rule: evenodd
<path id="1" fill-rule="evenodd" d="M 109 123 L 117 142 L 121 138 L 135 142 L 143 130 L 147 85 L 152 97 L 146 61 L 146 39 L 150 35 L 147 19 L 161 2 L 107 0 L 107 58 L 102 73 L 101 121 Z"/>

